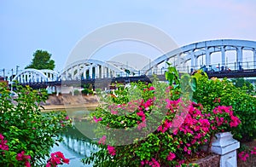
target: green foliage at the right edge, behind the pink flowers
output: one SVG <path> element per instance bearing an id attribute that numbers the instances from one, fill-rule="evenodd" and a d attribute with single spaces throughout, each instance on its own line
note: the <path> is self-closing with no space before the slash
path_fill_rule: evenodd
<path id="1" fill-rule="evenodd" d="M 193 98 L 203 105 L 204 112 L 214 107 L 232 107 L 235 115 L 241 120 L 241 125 L 232 130 L 234 137 L 240 141 L 252 141 L 256 138 L 256 98 L 247 94 L 247 89 L 236 88 L 233 83 L 224 78 L 208 79 L 201 72 L 195 73 L 198 89 Z"/>

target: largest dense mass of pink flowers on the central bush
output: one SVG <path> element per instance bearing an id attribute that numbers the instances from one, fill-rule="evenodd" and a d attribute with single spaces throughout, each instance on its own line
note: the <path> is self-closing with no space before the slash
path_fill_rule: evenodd
<path id="1" fill-rule="evenodd" d="M 167 100 L 166 107 L 170 110 L 173 114 L 176 113 L 175 118 L 171 120 L 166 119 L 165 122 L 158 127 L 158 131 L 165 133 L 166 130 L 172 129 L 173 135 L 177 135 L 177 133 L 181 133 L 180 135 L 193 135 L 191 139 L 191 143 L 189 146 L 183 146 L 183 151 L 190 154 L 191 150 L 189 149 L 190 146 L 196 144 L 201 144 L 201 142 L 206 142 L 206 135 L 210 131 L 210 123 L 207 118 L 201 113 L 199 109 L 200 105 L 195 103 L 191 103 L 188 107 L 185 107 L 180 99 L 177 101 L 170 101 Z M 177 110 L 180 113 L 177 114 Z M 187 112 L 189 111 L 189 112 Z M 167 113 L 168 115 L 168 113 Z M 181 147 L 181 146 L 177 146 Z"/>

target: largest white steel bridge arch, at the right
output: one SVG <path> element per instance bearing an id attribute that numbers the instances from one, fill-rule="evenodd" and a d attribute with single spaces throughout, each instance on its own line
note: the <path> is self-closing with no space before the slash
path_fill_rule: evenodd
<path id="1" fill-rule="evenodd" d="M 196 60 L 201 55 L 206 55 L 206 65 L 210 65 L 210 55 L 214 52 L 222 52 L 221 64 L 224 65 L 224 52 L 227 50 L 236 50 L 236 61 L 242 61 L 242 50 L 253 51 L 254 67 L 256 68 L 256 42 L 240 39 L 217 39 L 202 41 L 198 43 L 191 43 L 181 48 L 174 49 L 165 55 L 161 55 L 157 59 L 153 60 L 147 66 L 144 66 L 142 71 L 147 73 L 155 66 L 160 65 L 164 61 L 168 61 L 171 58 L 177 58 L 177 63 L 184 64 L 186 61 L 191 60 L 191 66 L 196 66 Z"/>

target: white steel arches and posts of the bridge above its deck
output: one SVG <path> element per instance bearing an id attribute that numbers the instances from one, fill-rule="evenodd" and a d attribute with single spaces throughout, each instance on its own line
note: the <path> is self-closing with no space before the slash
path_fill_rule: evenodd
<path id="1" fill-rule="evenodd" d="M 177 69 L 184 67 L 190 60 L 188 68 L 196 69 L 198 67 L 198 60 L 201 56 L 205 56 L 205 66 L 211 65 L 212 53 L 220 53 L 221 58 L 219 60 L 220 66 L 226 64 L 226 51 L 236 51 L 236 69 L 241 68 L 239 62 L 243 61 L 243 50 L 250 50 L 253 52 L 253 67 L 256 69 L 256 42 L 247 40 L 236 39 L 218 39 L 211 41 L 203 41 L 199 43 L 192 43 L 183 46 L 178 49 L 174 49 L 165 55 L 161 55 L 157 59 L 150 61 L 143 69 L 135 69 L 132 66 L 124 65 L 123 63 L 116 61 L 102 61 L 102 60 L 78 60 L 68 66 L 61 72 L 55 72 L 52 70 L 36 70 L 26 69 L 15 76 L 13 80 L 17 80 L 20 83 L 29 82 L 51 82 L 72 79 L 90 79 L 90 78 L 113 78 L 113 77 L 126 77 L 128 75 L 127 70 L 132 75 L 150 74 L 150 71 L 162 74 L 163 67 L 161 69 L 158 66 L 168 60 L 174 59 L 174 66 Z"/>

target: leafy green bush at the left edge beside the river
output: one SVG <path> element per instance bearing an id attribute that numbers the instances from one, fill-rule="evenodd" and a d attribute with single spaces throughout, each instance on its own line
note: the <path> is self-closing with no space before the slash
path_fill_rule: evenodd
<path id="1" fill-rule="evenodd" d="M 0 83 L 0 133 L 5 136 L 9 151 L 0 151 L 0 166 L 17 165 L 17 153 L 31 156 L 30 163 L 39 165 L 49 156 L 49 149 L 60 141 L 58 134 L 71 125 L 64 112 L 45 112 L 40 103 L 47 98 L 46 91 L 16 86 L 18 97 L 12 99 L 9 89 Z"/>

